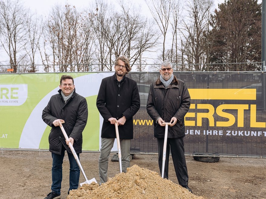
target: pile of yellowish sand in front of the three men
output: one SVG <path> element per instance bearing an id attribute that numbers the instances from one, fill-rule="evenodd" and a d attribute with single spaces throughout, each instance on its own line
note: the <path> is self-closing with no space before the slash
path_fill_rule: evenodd
<path id="1" fill-rule="evenodd" d="M 101 186 L 94 182 L 83 184 L 77 190 L 70 191 L 67 199 L 89 198 L 203 198 L 191 194 L 187 189 L 161 178 L 157 172 L 140 168 L 137 165 L 109 178 Z"/>

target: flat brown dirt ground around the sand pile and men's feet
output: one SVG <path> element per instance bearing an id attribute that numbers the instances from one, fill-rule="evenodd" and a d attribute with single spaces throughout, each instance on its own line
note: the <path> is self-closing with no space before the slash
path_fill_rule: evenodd
<path id="1" fill-rule="evenodd" d="M 118 162 L 109 159 L 108 177 L 119 173 Z M 88 179 L 99 181 L 99 153 L 82 153 L 80 161 Z M 189 186 L 204 198 L 266 198 L 266 159 L 220 158 L 217 163 L 203 163 L 187 156 Z M 1 150 L 0 198 L 44 198 L 51 187 L 51 153 L 46 151 Z M 137 154 L 130 165 L 159 172 L 157 155 Z M 61 198 L 67 197 L 69 163 L 65 155 Z M 172 160 L 169 179 L 177 183 Z M 80 174 L 80 182 L 84 182 Z"/>

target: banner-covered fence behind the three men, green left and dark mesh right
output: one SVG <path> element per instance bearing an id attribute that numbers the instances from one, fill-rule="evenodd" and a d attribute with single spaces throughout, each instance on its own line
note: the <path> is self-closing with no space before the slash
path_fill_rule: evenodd
<path id="1" fill-rule="evenodd" d="M 60 77 L 74 77 L 76 92 L 86 97 L 89 118 L 83 150 L 99 151 L 102 117 L 96 107 L 101 79 L 114 72 L 0 74 L 0 147 L 49 148 L 50 127 L 41 119 Z M 191 96 L 185 116 L 185 153 L 192 156 L 266 158 L 266 74 L 245 72 L 174 72 Z M 158 72 L 130 72 L 138 84 L 141 108 L 134 116 L 131 153 L 157 153 L 153 122 L 146 111 L 150 84 Z M 168 121 L 170 122 L 170 121 Z M 15 125 L 14 125 L 15 124 Z M 116 143 L 116 142 L 115 142 Z M 112 150 L 117 150 L 116 144 Z"/>

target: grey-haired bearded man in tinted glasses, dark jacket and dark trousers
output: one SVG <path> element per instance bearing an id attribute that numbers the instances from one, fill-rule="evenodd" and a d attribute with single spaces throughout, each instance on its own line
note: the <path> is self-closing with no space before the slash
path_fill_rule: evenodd
<path id="1" fill-rule="evenodd" d="M 160 69 L 161 76 L 151 84 L 147 101 L 147 112 L 154 120 L 154 137 L 158 143 L 158 163 L 160 172 L 168 179 L 169 153 L 174 162 L 178 182 L 184 188 L 188 187 L 187 164 L 184 154 L 185 136 L 184 116 L 190 107 L 190 95 L 182 80 L 173 74 L 172 64 L 164 61 Z M 163 122 L 172 123 L 168 128 L 165 168 L 162 171 L 164 131 Z"/>

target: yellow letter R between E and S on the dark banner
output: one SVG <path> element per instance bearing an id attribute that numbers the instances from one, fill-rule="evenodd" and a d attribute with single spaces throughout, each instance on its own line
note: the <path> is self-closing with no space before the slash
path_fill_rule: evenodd
<path id="1" fill-rule="evenodd" d="M 208 109 L 207 113 L 197 113 L 197 126 L 202 126 L 202 118 L 209 119 L 209 126 L 214 126 L 214 107 L 211 104 L 197 104 L 197 109 Z"/>

